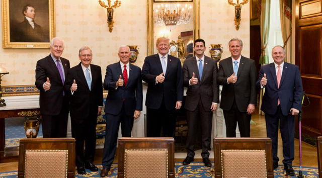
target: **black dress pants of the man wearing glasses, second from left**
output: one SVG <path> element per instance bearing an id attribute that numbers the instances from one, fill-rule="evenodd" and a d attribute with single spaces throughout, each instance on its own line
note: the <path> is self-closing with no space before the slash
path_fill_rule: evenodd
<path id="1" fill-rule="evenodd" d="M 97 113 L 92 113 L 85 119 L 70 118 L 71 136 L 76 139 L 76 166 L 84 166 L 93 162 L 96 147 Z M 84 155 L 85 141 L 85 155 Z"/>

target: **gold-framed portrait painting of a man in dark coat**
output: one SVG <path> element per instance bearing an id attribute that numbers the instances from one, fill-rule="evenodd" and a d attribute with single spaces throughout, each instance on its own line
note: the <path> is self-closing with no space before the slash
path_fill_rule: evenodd
<path id="1" fill-rule="evenodd" d="M 55 37 L 54 0 L 1 0 L 3 48 L 49 48 Z"/>

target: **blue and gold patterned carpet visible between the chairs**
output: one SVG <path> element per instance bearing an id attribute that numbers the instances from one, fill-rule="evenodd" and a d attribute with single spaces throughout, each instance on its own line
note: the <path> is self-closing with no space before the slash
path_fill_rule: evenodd
<path id="1" fill-rule="evenodd" d="M 99 169 L 102 168 L 102 165 L 97 165 Z M 205 167 L 202 162 L 193 162 L 190 165 L 184 166 L 182 165 L 182 162 L 176 162 L 176 177 L 214 177 L 214 170 L 212 167 Z M 298 175 L 299 167 L 293 166 L 295 170 L 295 174 Z M 90 170 L 87 170 L 86 175 L 76 175 L 78 178 L 88 177 L 88 178 L 94 178 L 94 177 L 100 177 L 100 172 L 91 172 Z M 112 175 L 108 176 L 110 178 L 116 178 L 117 177 L 117 164 L 112 164 L 111 167 Z M 318 170 L 316 167 L 302 167 L 303 174 L 305 177 L 310 178 L 317 178 L 318 177 Z M 11 171 L 11 172 L 1 172 L 0 177 L 6 177 L 6 178 L 14 178 L 17 177 L 17 171 Z M 297 176 L 286 176 L 285 171 L 283 170 L 283 166 L 280 165 L 279 168 L 274 170 L 274 178 L 278 177 L 297 177 Z M 260 178 L 260 177 L 259 177 Z"/>

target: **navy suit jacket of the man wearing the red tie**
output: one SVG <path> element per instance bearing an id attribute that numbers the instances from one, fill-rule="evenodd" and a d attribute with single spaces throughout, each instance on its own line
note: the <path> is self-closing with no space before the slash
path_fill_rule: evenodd
<path id="1" fill-rule="evenodd" d="M 123 71 L 120 62 L 108 65 L 106 67 L 106 74 L 104 79 L 104 89 L 109 91 L 105 104 L 105 113 L 117 115 L 121 112 L 124 99 L 125 114 L 133 116 L 134 111 L 142 111 L 142 80 L 141 69 L 130 63 L 129 78 L 126 86 L 118 86 L 116 82 L 122 75 Z"/>

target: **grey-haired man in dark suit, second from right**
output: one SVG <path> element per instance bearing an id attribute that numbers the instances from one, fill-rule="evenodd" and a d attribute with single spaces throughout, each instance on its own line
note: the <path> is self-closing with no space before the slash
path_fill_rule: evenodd
<path id="1" fill-rule="evenodd" d="M 243 41 L 229 41 L 231 57 L 219 62 L 218 84 L 222 85 L 220 108 L 226 123 L 227 137 L 236 137 L 236 125 L 241 137 L 250 137 L 251 116 L 255 111 L 257 70 L 255 61 L 241 55 Z"/>

